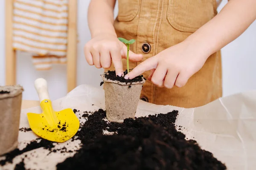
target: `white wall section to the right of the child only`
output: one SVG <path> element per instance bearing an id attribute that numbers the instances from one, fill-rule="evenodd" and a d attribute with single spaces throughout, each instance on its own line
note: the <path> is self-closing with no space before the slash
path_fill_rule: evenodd
<path id="1" fill-rule="evenodd" d="M 223 0 L 218 11 L 226 3 L 227 0 Z M 222 48 L 221 53 L 223 95 L 256 89 L 256 21 L 240 37 Z"/>

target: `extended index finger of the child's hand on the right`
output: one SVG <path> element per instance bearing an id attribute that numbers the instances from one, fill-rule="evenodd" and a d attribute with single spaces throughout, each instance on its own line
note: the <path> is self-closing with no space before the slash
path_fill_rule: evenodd
<path id="1" fill-rule="evenodd" d="M 125 79 L 133 79 L 134 77 L 143 74 L 145 71 L 157 68 L 157 58 L 151 57 L 146 59 L 144 62 L 141 62 L 137 65 L 131 72 L 125 75 Z"/>

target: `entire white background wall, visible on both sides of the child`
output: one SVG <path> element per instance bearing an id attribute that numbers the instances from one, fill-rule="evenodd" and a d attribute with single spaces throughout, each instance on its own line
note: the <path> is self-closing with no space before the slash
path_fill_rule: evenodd
<path id="1" fill-rule="evenodd" d="M 90 31 L 87 26 L 87 7 L 89 0 L 78 0 L 78 61 L 77 84 L 89 84 L 100 87 L 102 69 L 87 65 L 84 59 L 83 46 L 90 40 Z M 218 11 L 223 8 L 227 0 L 223 0 Z M 5 84 L 5 53 L 4 53 L 4 0 L 0 0 L 0 85 Z M 115 9 L 115 16 L 117 9 Z M 256 89 L 256 22 L 238 39 L 224 47 L 223 58 L 223 95 L 227 96 L 241 91 Z M 25 91 L 23 99 L 37 100 L 34 89 L 34 80 L 44 77 L 48 81 L 49 94 L 58 99 L 66 95 L 66 68 L 58 65 L 50 71 L 36 71 L 32 65 L 31 56 L 17 54 L 17 83 L 23 85 Z"/>

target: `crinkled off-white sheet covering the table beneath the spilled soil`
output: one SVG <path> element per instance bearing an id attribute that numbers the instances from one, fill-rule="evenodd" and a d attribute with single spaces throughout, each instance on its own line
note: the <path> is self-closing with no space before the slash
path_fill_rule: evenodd
<path id="1" fill-rule="evenodd" d="M 182 126 L 181 132 L 188 139 L 194 139 L 205 150 L 212 152 L 220 161 L 226 164 L 228 170 L 255 170 L 256 167 L 256 91 L 235 94 L 215 100 L 198 108 L 177 108 L 174 106 L 154 105 L 140 101 L 136 116 L 168 113 L 178 110 L 176 125 Z M 104 90 L 93 88 L 89 85 L 80 85 L 64 98 L 52 102 L 55 111 L 65 108 L 76 108 L 81 111 L 95 111 L 105 109 Z M 25 109 L 21 112 L 20 127 L 29 127 L 26 113 L 41 113 L 39 107 Z M 79 116 L 78 116 L 79 117 Z M 32 131 L 20 132 L 19 148 L 23 142 L 36 139 Z M 67 145 L 69 143 L 69 145 Z M 79 141 L 68 141 L 58 144 L 65 145 L 68 150 L 79 148 Z M 30 152 L 35 152 L 32 150 Z M 17 156 L 13 164 L 8 164 L 3 169 L 13 169 L 25 154 L 26 168 L 35 170 L 55 169 L 58 162 L 63 161 L 74 153 L 49 153 L 48 150 L 39 148 L 34 156 L 24 153 Z M 38 157 L 37 157 L 38 156 Z M 3 159 L 0 157 L 0 160 Z M 30 160 L 29 160 L 30 159 Z M 34 163 L 37 164 L 34 164 Z M 1 168 L 1 167 L 0 167 Z"/>

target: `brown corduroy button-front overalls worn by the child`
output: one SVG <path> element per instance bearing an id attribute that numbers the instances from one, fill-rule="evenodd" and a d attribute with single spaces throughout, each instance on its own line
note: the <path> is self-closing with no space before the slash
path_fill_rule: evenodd
<path id="1" fill-rule="evenodd" d="M 116 33 L 118 37 L 136 40 L 130 49 L 143 54 L 143 61 L 182 42 L 217 14 L 215 0 L 118 0 L 118 5 Z M 130 68 L 139 63 L 130 62 Z M 110 70 L 113 69 L 112 65 Z M 144 77 L 149 73 L 146 71 Z M 205 105 L 221 96 L 220 51 L 212 54 L 184 87 L 158 88 L 147 80 L 141 93 L 144 101 L 184 108 Z"/>

